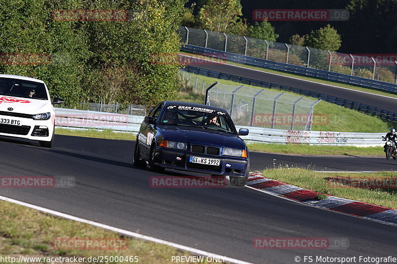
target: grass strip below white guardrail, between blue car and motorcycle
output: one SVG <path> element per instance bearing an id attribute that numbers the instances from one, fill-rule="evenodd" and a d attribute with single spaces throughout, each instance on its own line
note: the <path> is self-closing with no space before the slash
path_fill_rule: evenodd
<path id="1" fill-rule="evenodd" d="M 250 151 L 270 152 L 279 154 L 299 155 L 351 155 L 351 156 L 374 156 L 384 155 L 382 147 L 354 147 L 354 146 L 310 146 L 309 144 L 264 144 L 247 143 Z"/>

